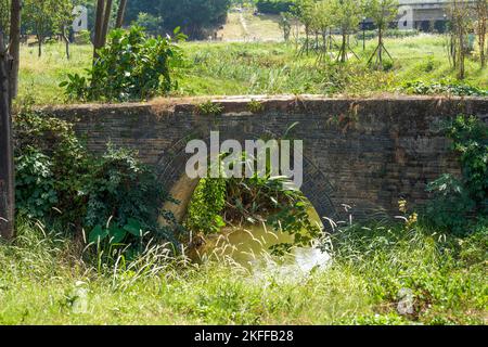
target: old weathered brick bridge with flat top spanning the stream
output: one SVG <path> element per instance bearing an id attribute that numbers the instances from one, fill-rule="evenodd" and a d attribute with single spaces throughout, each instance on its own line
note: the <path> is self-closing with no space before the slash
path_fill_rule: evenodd
<path id="1" fill-rule="evenodd" d="M 160 183 L 181 201 L 181 219 L 197 181 L 185 175 L 191 139 L 241 142 L 288 136 L 304 141 L 301 191 L 320 216 L 344 217 L 345 206 L 358 216 L 397 214 L 398 201 L 419 205 L 428 198 L 427 182 L 441 174 L 460 174 L 442 121 L 458 114 L 488 121 L 488 99 L 255 97 L 215 100 L 219 115 L 195 106 L 203 100 L 160 100 L 147 104 L 80 105 L 50 108 L 75 123 L 75 130 L 94 152 L 106 143 L 139 152 L 156 168 Z M 256 102 L 252 103 L 256 105 Z M 259 112 L 251 110 L 261 108 Z M 292 125 L 295 125 L 290 131 Z"/>

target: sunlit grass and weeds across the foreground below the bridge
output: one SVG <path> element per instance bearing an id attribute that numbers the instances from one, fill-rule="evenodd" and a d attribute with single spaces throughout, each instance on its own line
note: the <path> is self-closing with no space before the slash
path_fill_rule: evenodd
<path id="1" fill-rule="evenodd" d="M 333 265 L 299 282 L 160 249 L 98 268 L 69 237 L 30 222 L 18 232 L 0 244 L 0 324 L 487 323 L 486 227 L 463 240 L 419 226 L 346 228 Z M 407 317 L 396 311 L 401 288 L 414 296 Z"/>

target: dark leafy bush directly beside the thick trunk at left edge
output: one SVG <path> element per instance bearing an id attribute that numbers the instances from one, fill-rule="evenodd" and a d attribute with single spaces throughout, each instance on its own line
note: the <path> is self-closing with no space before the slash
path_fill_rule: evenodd
<path id="1" fill-rule="evenodd" d="M 78 191 L 89 166 L 73 126 L 27 106 L 15 116 L 14 130 L 20 213 L 78 222 L 82 210 Z M 31 198 L 36 198 L 35 204 Z"/>

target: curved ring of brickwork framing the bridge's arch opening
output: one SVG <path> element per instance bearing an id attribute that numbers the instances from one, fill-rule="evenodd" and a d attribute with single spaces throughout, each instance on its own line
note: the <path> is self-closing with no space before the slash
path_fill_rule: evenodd
<path id="1" fill-rule="evenodd" d="M 262 139 L 264 136 L 268 136 L 272 139 L 282 138 L 270 130 L 266 130 L 260 134 L 243 132 L 242 136 L 245 139 L 237 139 L 241 143 L 243 143 L 244 140 Z M 220 143 L 229 138 L 221 138 Z M 187 162 L 191 157 L 191 154 L 187 154 L 184 150 L 187 143 L 192 139 L 201 139 L 206 142 L 209 147 L 209 137 L 202 136 L 198 131 L 193 131 L 176 141 L 169 149 L 162 153 L 156 164 L 158 181 L 165 185 L 165 189 L 175 200 L 180 202 L 179 205 L 167 203 L 165 204 L 164 209 L 170 210 L 178 221 L 183 220 L 185 217 L 188 205 L 200 182 L 200 179 L 191 179 L 185 174 Z M 321 171 L 306 154 L 303 155 L 303 163 L 304 183 L 300 191 L 310 201 L 320 217 L 336 219 L 338 217 L 338 211 L 331 198 L 334 193 L 333 185 L 330 183 L 325 174 Z"/>

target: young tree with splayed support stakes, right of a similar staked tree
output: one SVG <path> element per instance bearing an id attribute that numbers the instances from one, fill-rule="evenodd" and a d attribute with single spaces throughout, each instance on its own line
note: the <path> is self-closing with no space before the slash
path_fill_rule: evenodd
<path id="1" fill-rule="evenodd" d="M 383 34 L 388 28 L 389 23 L 396 18 L 398 5 L 398 0 L 367 1 L 367 13 L 377 27 L 377 46 L 368 62 L 368 64 L 372 64 L 375 68 L 383 69 L 383 52 L 386 52 L 389 59 L 391 59 L 391 55 L 389 55 L 383 41 Z"/>

